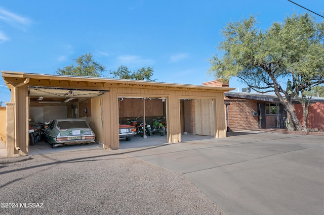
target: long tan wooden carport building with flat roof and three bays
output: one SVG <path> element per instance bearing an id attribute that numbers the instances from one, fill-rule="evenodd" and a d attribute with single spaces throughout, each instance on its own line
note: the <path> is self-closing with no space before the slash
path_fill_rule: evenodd
<path id="1" fill-rule="evenodd" d="M 45 106 L 50 106 L 53 116 L 66 106 L 66 117 L 85 118 L 104 149 L 118 149 L 119 98 L 123 97 L 164 99 L 167 143 L 181 142 L 181 100 L 191 100 L 190 120 L 196 130 L 200 125 L 196 122 L 208 121 L 210 135 L 226 137 L 224 91 L 232 88 L 10 71 L 2 71 L 2 76 L 11 90 L 11 102 L 6 103 L 7 156 L 29 154 L 28 119 L 30 113 L 38 113 L 29 109 L 42 106 L 44 121 L 51 116 Z"/>

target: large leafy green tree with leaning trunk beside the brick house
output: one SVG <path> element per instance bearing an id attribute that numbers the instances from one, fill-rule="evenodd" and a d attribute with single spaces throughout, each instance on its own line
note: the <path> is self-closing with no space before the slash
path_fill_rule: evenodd
<path id="1" fill-rule="evenodd" d="M 257 92 L 274 92 L 290 114 L 289 123 L 301 131 L 293 99 L 324 83 L 324 23 L 307 13 L 274 22 L 265 32 L 256 23 L 255 16 L 228 23 L 219 45 L 223 57 L 213 56 L 209 72 L 216 78 L 236 76 Z"/>

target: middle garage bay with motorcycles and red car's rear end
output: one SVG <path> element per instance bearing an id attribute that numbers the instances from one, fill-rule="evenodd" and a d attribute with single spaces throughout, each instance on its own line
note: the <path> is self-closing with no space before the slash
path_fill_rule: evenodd
<path id="1" fill-rule="evenodd" d="M 120 96 L 118 109 L 121 149 L 167 143 L 166 98 Z"/>

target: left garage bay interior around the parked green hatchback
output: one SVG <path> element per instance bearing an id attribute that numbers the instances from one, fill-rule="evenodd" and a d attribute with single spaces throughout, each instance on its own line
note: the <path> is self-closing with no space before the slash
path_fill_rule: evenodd
<path id="1" fill-rule="evenodd" d="M 29 125 L 33 129 L 41 130 L 41 135 L 35 135 L 35 143 L 29 140 L 29 153 L 44 153 L 53 151 L 51 145 L 45 142 L 44 128 L 57 119 L 84 119 L 92 128 L 92 99 L 109 90 L 88 90 L 72 88 L 54 88 L 29 86 Z M 94 128 L 92 130 L 95 131 Z M 30 130 L 29 130 L 30 131 Z M 30 134 L 29 134 L 30 136 Z M 65 146 L 64 150 L 76 149 Z"/>

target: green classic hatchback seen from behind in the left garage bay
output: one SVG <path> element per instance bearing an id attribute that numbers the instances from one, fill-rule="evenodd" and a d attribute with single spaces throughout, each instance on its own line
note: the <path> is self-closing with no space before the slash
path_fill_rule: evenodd
<path id="1" fill-rule="evenodd" d="M 96 142 L 94 132 L 83 119 L 53 120 L 44 130 L 44 134 L 45 140 L 52 145 L 52 148 Z"/>

